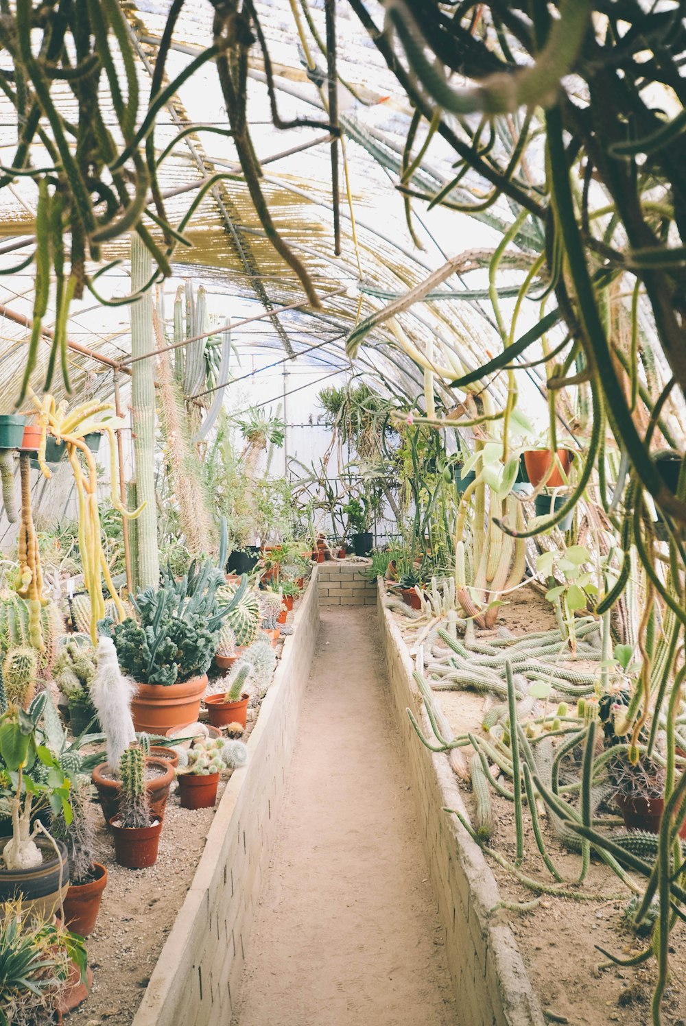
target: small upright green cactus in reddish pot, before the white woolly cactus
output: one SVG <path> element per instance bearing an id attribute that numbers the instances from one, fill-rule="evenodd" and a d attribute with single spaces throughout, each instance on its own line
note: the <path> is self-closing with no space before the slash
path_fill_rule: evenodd
<path id="1" fill-rule="evenodd" d="M 122 752 L 119 775 L 119 811 L 110 820 L 115 858 L 127 869 L 145 869 L 157 862 L 162 817 L 150 811 L 142 748 Z"/>

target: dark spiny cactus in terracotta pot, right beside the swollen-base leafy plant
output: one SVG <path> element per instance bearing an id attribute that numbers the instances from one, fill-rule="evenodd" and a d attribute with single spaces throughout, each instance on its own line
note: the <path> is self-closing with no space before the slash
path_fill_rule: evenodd
<path id="1" fill-rule="evenodd" d="M 50 832 L 62 841 L 69 858 L 69 891 L 64 901 L 65 924 L 79 937 L 88 937 L 96 926 L 107 869 L 93 856 L 93 830 L 88 808 L 90 781 L 78 777 L 71 791 L 72 817 L 64 811 L 53 816 Z"/>

